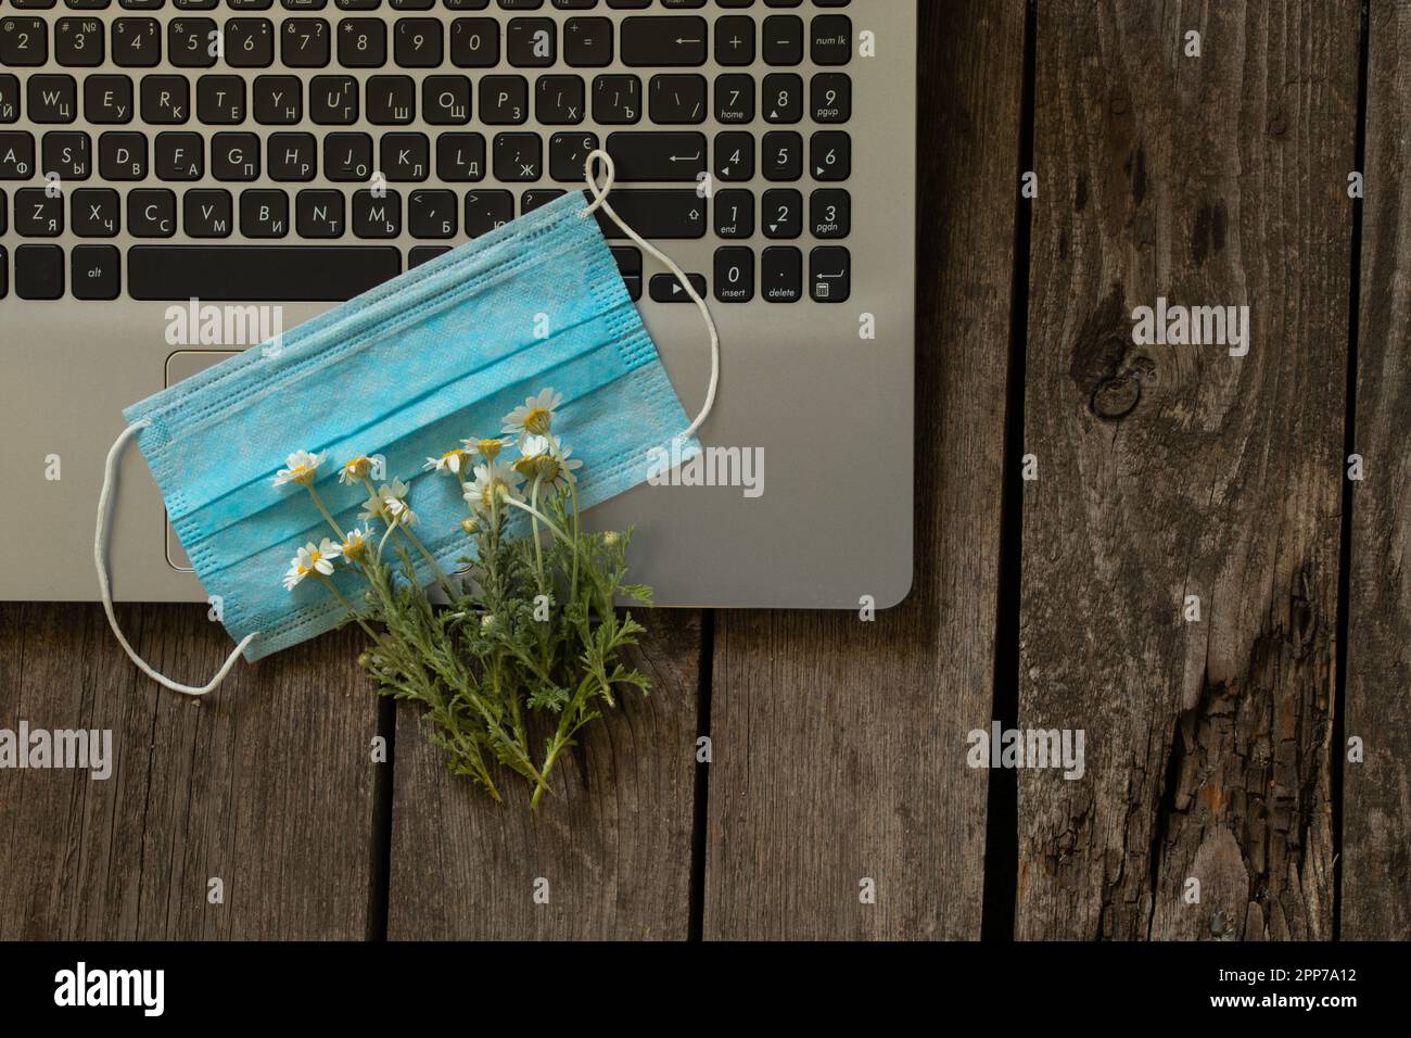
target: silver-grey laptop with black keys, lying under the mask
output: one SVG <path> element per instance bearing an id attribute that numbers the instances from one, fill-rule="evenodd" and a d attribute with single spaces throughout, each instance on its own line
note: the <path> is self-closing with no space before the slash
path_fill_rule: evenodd
<path id="1" fill-rule="evenodd" d="M 25 551 L 0 597 L 97 597 L 123 407 L 581 189 L 604 147 L 614 208 L 710 302 L 722 373 L 704 462 L 590 518 L 636 528 L 662 604 L 897 603 L 916 41 L 913 0 L 10 0 L 0 470 Z M 700 315 L 605 233 L 694 414 Z M 205 599 L 137 451 L 110 558 L 120 600 Z"/>

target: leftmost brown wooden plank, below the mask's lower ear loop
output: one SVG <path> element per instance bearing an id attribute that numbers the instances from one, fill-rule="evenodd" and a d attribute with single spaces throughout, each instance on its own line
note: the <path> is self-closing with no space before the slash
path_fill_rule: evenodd
<path id="1" fill-rule="evenodd" d="M 126 606 L 137 651 L 205 679 L 205 607 Z M 0 939 L 357 939 L 368 926 L 373 689 L 346 636 L 196 700 L 144 678 L 97 606 L 0 606 L 0 727 L 110 729 L 106 781 L 0 771 Z M 220 877 L 224 902 L 209 904 Z"/>

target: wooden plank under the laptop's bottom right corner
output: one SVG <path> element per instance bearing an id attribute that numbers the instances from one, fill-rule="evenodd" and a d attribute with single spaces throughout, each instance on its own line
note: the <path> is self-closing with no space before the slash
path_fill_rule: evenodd
<path id="1" fill-rule="evenodd" d="M 1023 4 L 921 4 L 914 587 L 717 617 L 707 939 L 979 936 L 1023 38 Z"/>

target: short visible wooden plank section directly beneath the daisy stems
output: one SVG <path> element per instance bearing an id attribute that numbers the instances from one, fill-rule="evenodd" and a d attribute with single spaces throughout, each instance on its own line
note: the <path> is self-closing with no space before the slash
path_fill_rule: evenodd
<path id="1" fill-rule="evenodd" d="M 420 710 L 398 703 L 389 939 L 686 939 L 700 613 L 642 621 L 628 665 L 652 695 L 587 729 L 535 813 L 518 778 L 495 804 L 447 772 Z M 547 904 L 533 900 L 540 878 Z"/>

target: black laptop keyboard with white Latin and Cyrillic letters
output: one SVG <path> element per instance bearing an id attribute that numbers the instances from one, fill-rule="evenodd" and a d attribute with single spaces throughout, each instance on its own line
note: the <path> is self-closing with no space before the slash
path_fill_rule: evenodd
<path id="1" fill-rule="evenodd" d="M 581 186 L 605 147 L 638 233 L 711 241 L 703 294 L 842 302 L 847 7 L 8 0 L 0 298 L 340 301 Z M 687 299 L 614 254 L 635 299 Z"/>

